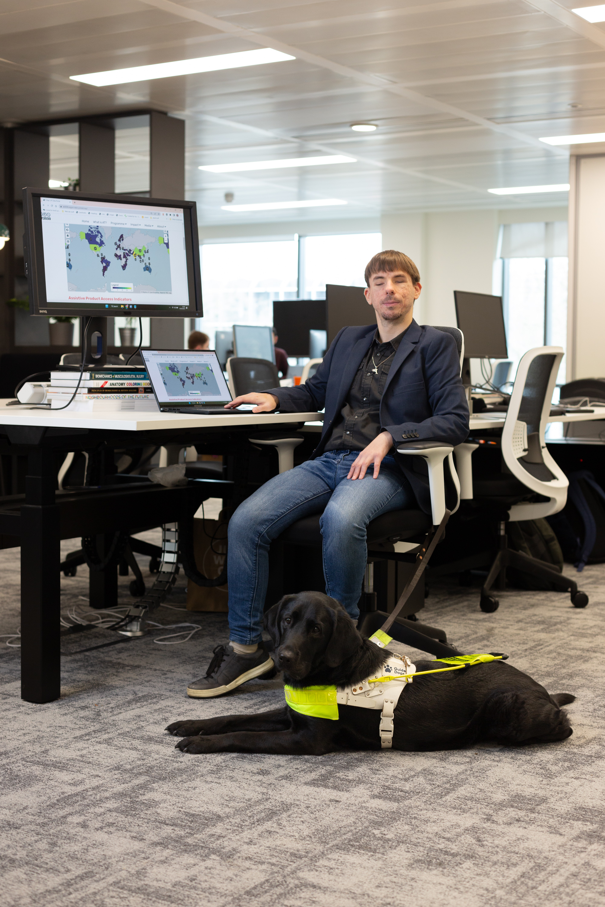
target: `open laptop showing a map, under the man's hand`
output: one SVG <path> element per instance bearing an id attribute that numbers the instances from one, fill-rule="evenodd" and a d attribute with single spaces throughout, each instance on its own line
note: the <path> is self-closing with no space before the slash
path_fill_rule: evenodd
<path id="1" fill-rule="evenodd" d="M 161 413 L 242 415 L 246 408 L 225 409 L 233 397 L 213 349 L 141 349 Z"/>

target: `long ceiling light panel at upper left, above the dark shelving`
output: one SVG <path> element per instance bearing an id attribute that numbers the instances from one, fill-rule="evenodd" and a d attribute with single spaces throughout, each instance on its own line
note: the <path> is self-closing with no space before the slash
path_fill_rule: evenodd
<path id="1" fill-rule="evenodd" d="M 149 66 L 130 66 L 128 69 L 110 69 L 104 73 L 70 75 L 73 82 L 89 85 L 122 85 L 125 82 L 143 82 L 147 79 L 165 79 L 171 75 L 214 73 L 220 69 L 237 69 L 239 66 L 259 66 L 260 63 L 280 63 L 296 57 L 261 47 L 258 51 L 240 51 L 238 54 L 217 54 L 197 57 L 195 60 L 176 60 L 174 63 L 151 63 Z"/>

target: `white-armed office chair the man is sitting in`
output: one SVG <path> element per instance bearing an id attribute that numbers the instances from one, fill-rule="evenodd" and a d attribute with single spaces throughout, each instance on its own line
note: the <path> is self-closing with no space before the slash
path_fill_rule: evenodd
<path id="1" fill-rule="evenodd" d="M 464 359 L 464 335 L 457 327 L 436 327 L 454 337 L 461 369 Z M 421 456 L 428 466 L 429 489 L 431 493 L 431 514 L 423 511 L 391 511 L 372 520 L 367 525 L 367 557 L 364 591 L 360 599 L 358 627 L 369 636 L 385 622 L 385 611 L 376 610 L 376 592 L 373 585 L 374 563 L 376 561 L 414 561 L 416 548 L 410 542 L 421 542 L 424 534 L 441 522 L 445 508 L 454 513 L 460 504 L 460 483 L 454 468 L 454 447 L 452 444 L 433 442 L 408 442 L 397 445 L 397 453 L 405 456 Z M 319 529 L 321 514 L 315 513 L 293 523 L 282 532 L 273 545 L 278 548 L 285 542 L 304 547 L 321 546 Z M 410 550 L 412 549 L 412 550 Z M 284 590 L 287 591 L 287 590 Z M 360 590 L 361 593 L 361 590 Z M 430 652 L 437 658 L 447 658 L 457 650 L 447 643 L 444 630 L 420 623 L 415 611 L 423 607 L 422 602 L 410 599 L 402 615 L 395 619 L 389 633 L 399 642 Z M 414 622 L 412 622 L 414 621 Z"/>

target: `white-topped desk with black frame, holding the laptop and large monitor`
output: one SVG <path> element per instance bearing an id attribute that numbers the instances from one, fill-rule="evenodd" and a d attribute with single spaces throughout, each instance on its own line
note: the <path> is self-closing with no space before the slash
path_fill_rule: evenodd
<path id="1" fill-rule="evenodd" d="M 115 448 L 216 444 L 219 451 L 211 453 L 222 447 L 232 454 L 234 481 L 226 484 L 237 499 L 240 492 L 245 497 L 249 488 L 250 432 L 272 429 L 274 433 L 278 426 L 289 426 L 291 431 L 306 422 L 317 427 L 323 420 L 317 412 L 73 413 L 6 403 L 0 400 L 0 453 L 26 454 L 27 475 L 24 496 L 5 498 L 0 507 L 0 532 L 11 537 L 7 542 L 21 543 L 22 697 L 36 703 L 50 702 L 60 694 L 60 540 L 89 533 L 107 538 L 116 529 L 136 532 L 137 527 L 180 521 L 190 513 L 192 503 L 197 509 L 198 499 L 203 500 L 201 482 L 170 489 L 144 481 L 107 485 L 104 464 L 112 467 Z M 101 464 L 99 476 L 82 492 L 62 492 L 55 498 L 57 458 L 69 451 L 93 454 L 94 462 Z M 112 588 L 109 573 L 91 571 L 91 582 L 96 583 L 99 598 L 113 596 L 117 601 L 117 585 Z"/>

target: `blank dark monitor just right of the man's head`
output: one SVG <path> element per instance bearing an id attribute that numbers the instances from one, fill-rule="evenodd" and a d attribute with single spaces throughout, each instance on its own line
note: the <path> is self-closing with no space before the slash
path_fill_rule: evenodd
<path id="1" fill-rule="evenodd" d="M 456 321 L 464 334 L 467 359 L 506 359 L 503 300 L 501 296 L 454 290 Z"/>

